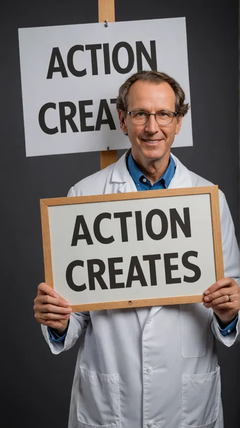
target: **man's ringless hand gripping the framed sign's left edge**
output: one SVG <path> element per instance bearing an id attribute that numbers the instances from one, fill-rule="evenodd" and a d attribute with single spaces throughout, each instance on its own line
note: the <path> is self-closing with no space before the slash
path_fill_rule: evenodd
<path id="1" fill-rule="evenodd" d="M 70 303 L 44 282 L 38 285 L 33 309 L 37 322 L 54 328 L 59 335 L 65 333 L 71 313 Z"/>

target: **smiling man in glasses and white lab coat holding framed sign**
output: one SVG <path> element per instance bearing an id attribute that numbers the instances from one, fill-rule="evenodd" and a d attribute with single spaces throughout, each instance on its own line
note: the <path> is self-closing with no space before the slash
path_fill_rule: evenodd
<path id="1" fill-rule="evenodd" d="M 211 185 L 170 155 L 188 110 L 184 98 L 164 73 L 130 77 L 116 106 L 132 149 L 69 196 Z M 206 284 L 204 304 L 70 314 L 69 303 L 39 284 L 35 318 L 51 351 L 81 337 L 69 428 L 223 427 L 215 338 L 226 346 L 239 341 L 240 300 L 238 248 L 221 191 L 219 200 L 225 278 Z"/>

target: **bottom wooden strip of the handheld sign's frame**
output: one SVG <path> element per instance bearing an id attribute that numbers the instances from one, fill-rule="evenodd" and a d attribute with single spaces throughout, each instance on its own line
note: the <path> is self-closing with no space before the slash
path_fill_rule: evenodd
<path id="1" fill-rule="evenodd" d="M 87 303 L 71 306 L 73 312 L 99 311 L 106 309 L 140 308 L 142 306 L 181 305 L 184 303 L 204 302 L 203 295 L 188 295 L 180 297 L 165 297 L 156 299 L 126 300 L 123 302 Z"/>

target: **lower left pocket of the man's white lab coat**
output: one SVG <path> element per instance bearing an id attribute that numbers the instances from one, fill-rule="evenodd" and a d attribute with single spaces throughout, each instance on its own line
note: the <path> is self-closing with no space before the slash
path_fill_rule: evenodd
<path id="1" fill-rule="evenodd" d="M 118 374 L 101 374 L 79 368 L 77 419 L 79 428 L 120 427 Z"/>

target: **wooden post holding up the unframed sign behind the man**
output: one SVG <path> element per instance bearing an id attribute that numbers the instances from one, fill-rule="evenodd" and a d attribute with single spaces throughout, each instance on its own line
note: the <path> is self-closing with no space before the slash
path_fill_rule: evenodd
<path id="1" fill-rule="evenodd" d="M 114 0 L 98 0 L 98 22 L 114 22 Z M 107 31 L 107 28 L 106 28 Z M 102 150 L 100 152 L 101 170 L 117 161 L 116 150 Z"/>

